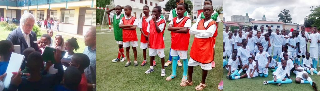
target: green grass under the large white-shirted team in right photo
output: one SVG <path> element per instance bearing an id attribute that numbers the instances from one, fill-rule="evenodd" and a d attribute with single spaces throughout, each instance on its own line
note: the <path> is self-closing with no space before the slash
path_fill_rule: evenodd
<path id="1" fill-rule="evenodd" d="M 308 43 L 308 51 L 309 51 L 309 44 Z M 277 59 L 276 59 L 277 60 Z M 301 62 L 301 61 L 300 61 Z M 317 64 L 319 66 L 319 63 Z M 317 67 L 318 71 L 319 71 L 319 67 Z M 277 86 L 276 84 L 267 84 L 267 85 L 263 85 L 263 81 L 271 81 L 273 80 L 273 75 L 272 72 L 269 69 L 268 72 L 268 77 L 254 77 L 254 78 L 243 78 L 243 79 L 236 79 L 236 80 L 229 80 L 226 78 L 226 75 L 228 74 L 228 70 L 226 68 L 223 68 L 223 85 L 224 85 L 224 90 L 227 91 L 236 91 L 236 90 L 256 90 L 256 91 L 275 91 L 275 90 L 285 90 L 285 91 L 290 91 L 290 90 L 296 90 L 296 89 L 304 89 L 307 91 L 312 91 L 313 88 L 311 87 L 310 84 L 305 83 L 305 84 L 300 84 L 300 83 L 296 83 L 294 80 L 296 78 L 296 74 L 292 73 L 290 74 L 290 77 L 293 78 L 292 79 L 292 83 L 288 83 L 288 84 L 281 84 L 281 86 Z M 245 74 L 244 72 L 240 75 Z M 314 75 L 310 75 L 308 74 L 312 81 L 316 82 L 318 85 L 318 89 L 319 88 L 319 83 L 320 83 L 320 76 L 314 74 Z M 236 88 L 235 88 L 236 87 Z"/>

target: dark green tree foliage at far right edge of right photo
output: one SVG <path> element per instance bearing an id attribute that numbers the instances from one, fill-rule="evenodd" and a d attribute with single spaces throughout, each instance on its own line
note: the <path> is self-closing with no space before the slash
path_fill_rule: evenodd
<path id="1" fill-rule="evenodd" d="M 317 26 L 318 30 L 320 29 L 320 5 L 316 6 L 313 10 L 313 13 L 309 15 L 309 19 L 313 18 L 314 22 L 311 22 L 311 26 Z"/>

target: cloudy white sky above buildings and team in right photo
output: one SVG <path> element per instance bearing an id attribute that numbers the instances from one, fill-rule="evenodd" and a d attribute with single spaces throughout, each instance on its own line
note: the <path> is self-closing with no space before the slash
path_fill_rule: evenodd
<path id="1" fill-rule="evenodd" d="M 223 17 L 231 21 L 232 15 L 248 13 L 249 18 L 262 20 L 263 14 L 267 21 L 278 21 L 281 10 L 289 10 L 292 23 L 303 24 L 303 18 L 311 14 L 311 6 L 320 5 L 320 0 L 223 0 Z"/>

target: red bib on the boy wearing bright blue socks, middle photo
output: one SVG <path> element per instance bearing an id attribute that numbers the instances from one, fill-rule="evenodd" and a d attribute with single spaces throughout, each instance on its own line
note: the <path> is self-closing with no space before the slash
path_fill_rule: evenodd
<path id="1" fill-rule="evenodd" d="M 177 18 L 178 17 L 174 17 L 172 19 L 173 27 L 184 27 L 184 24 L 186 24 L 188 19 L 190 19 L 189 17 L 184 17 L 179 23 L 176 23 Z M 189 29 L 187 33 L 171 32 L 171 48 L 173 50 L 187 51 L 189 46 L 189 38 Z"/>

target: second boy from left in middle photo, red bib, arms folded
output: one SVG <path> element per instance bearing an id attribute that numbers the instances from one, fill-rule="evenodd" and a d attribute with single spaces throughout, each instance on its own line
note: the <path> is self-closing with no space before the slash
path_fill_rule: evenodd
<path id="1" fill-rule="evenodd" d="M 120 19 L 119 28 L 122 28 L 123 35 L 123 47 L 125 48 L 125 54 L 128 58 L 125 67 L 128 67 L 131 64 L 130 61 L 130 45 L 132 46 L 133 55 L 134 55 L 134 66 L 138 66 L 137 61 L 137 46 L 138 46 L 138 38 L 136 27 L 138 25 L 138 20 L 136 17 L 131 16 L 132 8 L 127 5 L 124 7 L 125 17 Z"/>

